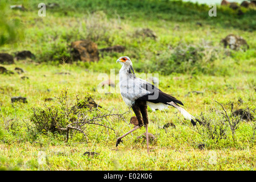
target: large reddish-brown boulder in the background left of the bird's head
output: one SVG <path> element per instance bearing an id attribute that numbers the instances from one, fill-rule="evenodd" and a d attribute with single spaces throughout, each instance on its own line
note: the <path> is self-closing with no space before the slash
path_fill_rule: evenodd
<path id="1" fill-rule="evenodd" d="M 100 59 L 97 44 L 90 40 L 79 40 L 71 43 L 73 61 L 98 61 Z"/>

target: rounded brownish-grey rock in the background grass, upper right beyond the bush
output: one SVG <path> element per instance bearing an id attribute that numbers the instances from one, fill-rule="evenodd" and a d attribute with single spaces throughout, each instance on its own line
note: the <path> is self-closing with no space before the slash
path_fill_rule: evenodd
<path id="1" fill-rule="evenodd" d="M 241 36 L 234 34 L 229 34 L 228 36 L 226 36 L 225 39 L 221 40 L 221 43 L 224 44 L 225 48 L 229 46 L 229 48 L 233 50 L 239 50 L 242 48 L 243 51 L 246 51 L 246 49 L 249 48 L 249 45 L 247 44 L 245 39 L 243 39 Z"/>

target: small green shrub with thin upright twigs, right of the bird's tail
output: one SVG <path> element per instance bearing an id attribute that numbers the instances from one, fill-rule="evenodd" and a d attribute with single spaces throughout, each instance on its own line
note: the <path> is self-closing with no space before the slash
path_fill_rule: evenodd
<path id="1" fill-rule="evenodd" d="M 215 101 L 217 102 L 217 101 Z M 239 129 L 241 123 L 246 121 L 241 117 L 241 115 L 234 115 L 234 102 L 229 102 L 230 110 L 226 111 L 224 106 L 217 102 L 222 110 L 210 109 L 208 115 L 201 113 L 200 115 L 200 125 L 196 127 L 196 131 L 201 135 L 202 139 L 205 142 L 214 143 L 214 144 L 229 144 L 237 146 L 238 142 L 244 142 L 245 138 L 241 138 L 241 134 L 237 134 L 237 129 Z M 238 100 L 237 107 L 242 105 L 241 98 Z M 245 110 L 245 109 L 243 109 Z M 247 107 L 246 109 L 249 109 Z M 251 120 L 253 121 L 253 120 Z M 253 133 L 251 134 L 251 142 L 254 142 L 255 139 L 255 123 L 250 123 Z M 241 129 L 242 130 L 242 129 Z M 238 132 L 239 133 L 239 132 Z M 250 134 L 249 134 L 250 135 Z M 232 139 L 231 139 L 232 138 Z M 231 139 L 231 140 L 230 140 Z M 232 141 L 233 142 L 230 142 Z M 246 141 L 247 138 L 246 138 Z M 233 144 L 232 144 L 233 143 Z"/>

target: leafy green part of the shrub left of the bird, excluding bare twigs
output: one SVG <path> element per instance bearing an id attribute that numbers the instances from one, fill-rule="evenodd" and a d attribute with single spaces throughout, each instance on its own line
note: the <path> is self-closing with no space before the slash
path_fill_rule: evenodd
<path id="1" fill-rule="evenodd" d="M 79 113 L 89 110 L 89 100 L 92 99 L 89 93 L 86 93 L 82 100 L 76 97 L 76 102 L 72 106 L 68 104 L 67 93 L 68 89 L 62 89 L 56 97 L 57 102 L 32 109 L 30 121 L 35 124 L 36 131 L 64 134 L 67 125 L 79 118 Z"/>

